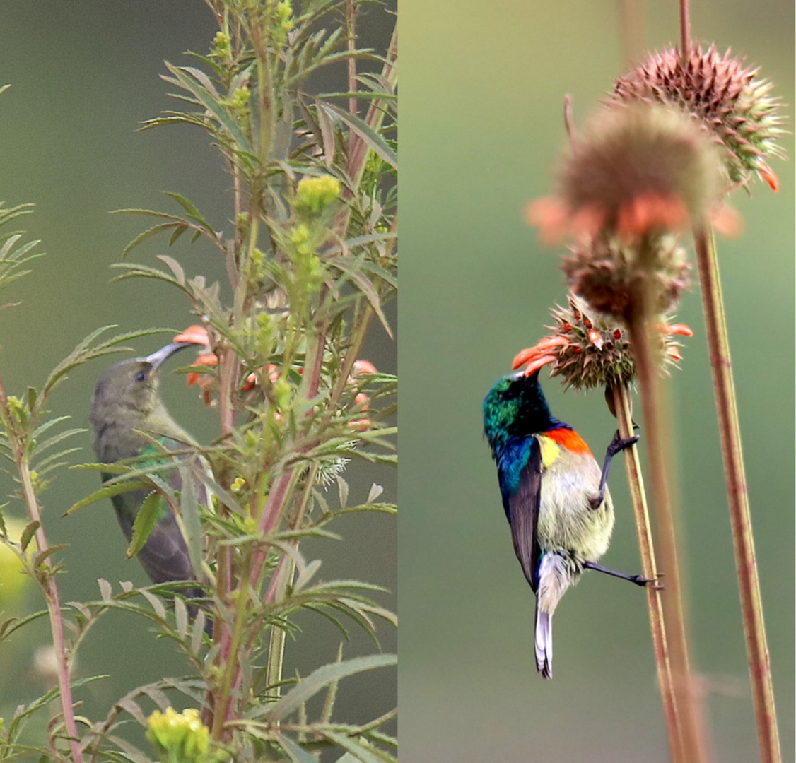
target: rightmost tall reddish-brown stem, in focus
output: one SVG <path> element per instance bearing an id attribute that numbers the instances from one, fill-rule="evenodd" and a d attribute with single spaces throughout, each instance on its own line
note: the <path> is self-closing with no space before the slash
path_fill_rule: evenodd
<path id="1" fill-rule="evenodd" d="M 716 394 L 721 453 L 724 457 L 724 476 L 727 480 L 732 542 L 738 570 L 743 633 L 746 636 L 760 758 L 763 763 L 779 763 L 782 761 L 782 753 L 779 748 L 774 687 L 771 683 L 771 663 L 768 655 L 766 627 L 763 621 L 763 601 L 760 596 L 760 583 L 755 560 L 755 539 L 751 529 L 746 474 L 743 469 L 738 404 L 735 383 L 732 378 L 719 262 L 716 257 L 716 242 L 712 229 L 708 227 L 696 230 L 694 242 L 696 244 L 696 263 L 702 286 L 702 305 L 708 335 L 713 387 Z"/>

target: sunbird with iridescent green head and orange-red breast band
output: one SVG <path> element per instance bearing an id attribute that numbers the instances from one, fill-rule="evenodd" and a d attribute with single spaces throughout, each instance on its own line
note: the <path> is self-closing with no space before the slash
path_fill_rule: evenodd
<path id="1" fill-rule="evenodd" d="M 608 467 L 638 435 L 621 439 L 617 432 L 600 469 L 579 434 L 550 412 L 538 371 L 504 376 L 486 395 L 483 413 L 514 552 L 537 596 L 537 670 L 552 678 L 552 615 L 583 570 L 651 582 L 597 563 L 614 527 Z"/>

